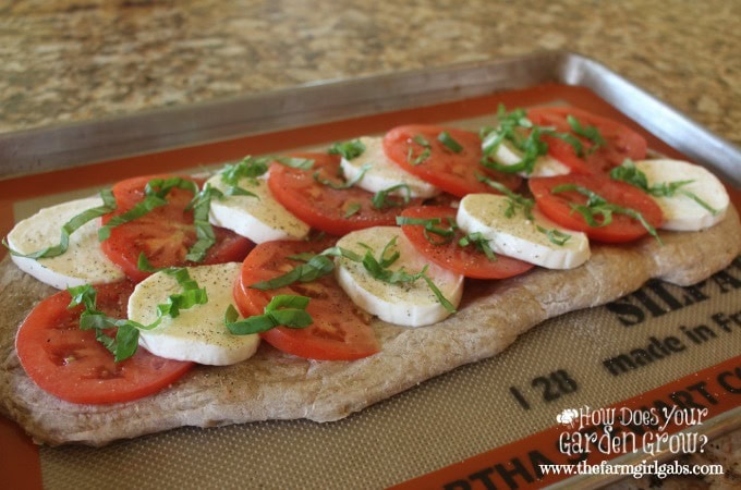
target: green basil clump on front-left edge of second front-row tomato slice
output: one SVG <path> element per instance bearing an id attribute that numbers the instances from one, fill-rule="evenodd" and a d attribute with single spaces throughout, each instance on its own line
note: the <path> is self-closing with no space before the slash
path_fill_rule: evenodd
<path id="1" fill-rule="evenodd" d="M 306 296 L 279 294 L 265 306 L 263 315 L 239 321 L 236 309 L 229 305 L 224 315 L 224 324 L 235 335 L 266 332 L 276 327 L 303 329 L 314 323 L 312 316 L 306 311 L 308 302 L 309 298 Z"/>

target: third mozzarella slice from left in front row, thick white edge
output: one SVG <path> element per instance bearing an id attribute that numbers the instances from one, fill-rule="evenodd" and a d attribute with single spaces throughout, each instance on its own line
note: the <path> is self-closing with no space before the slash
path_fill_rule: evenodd
<path id="1" fill-rule="evenodd" d="M 534 220 L 526 219 L 522 212 L 508 218 L 508 208 L 506 196 L 469 194 L 461 200 L 455 220 L 466 233 L 481 233 L 494 252 L 536 266 L 573 269 L 590 258 L 590 242 L 584 233 L 557 225 L 537 208 L 533 209 Z M 543 230 L 558 230 L 570 238 L 558 245 Z"/>

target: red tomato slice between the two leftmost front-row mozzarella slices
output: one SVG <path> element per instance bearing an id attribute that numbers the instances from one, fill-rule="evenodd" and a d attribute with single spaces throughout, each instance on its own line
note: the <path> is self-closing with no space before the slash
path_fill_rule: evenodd
<path id="1" fill-rule="evenodd" d="M 299 357 L 320 360 L 352 360 L 379 351 L 369 326 L 370 317 L 357 309 L 330 274 L 317 281 L 296 283 L 270 291 L 250 289 L 251 284 L 281 275 L 302 264 L 288 257 L 318 253 L 328 244 L 313 242 L 267 242 L 244 259 L 234 284 L 234 301 L 242 315 L 262 315 L 272 296 L 292 294 L 311 297 L 306 310 L 314 323 L 305 329 L 278 327 L 260 336 L 276 348 Z"/>

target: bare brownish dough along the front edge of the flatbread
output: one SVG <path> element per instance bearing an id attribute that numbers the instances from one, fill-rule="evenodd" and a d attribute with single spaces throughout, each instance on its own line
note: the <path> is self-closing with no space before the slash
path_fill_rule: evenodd
<path id="1" fill-rule="evenodd" d="M 458 366 L 496 355 L 547 318 L 603 305 L 652 278 L 690 285 L 741 254 L 741 224 L 732 207 L 701 232 L 660 233 L 630 246 L 593 246 L 592 258 L 567 271 L 536 268 L 503 281 L 469 281 L 459 313 L 430 327 L 376 320 L 382 351 L 355 362 L 292 357 L 264 344 L 228 367 L 197 366 L 170 389 L 113 405 L 77 405 L 37 388 L 20 366 L 15 332 L 32 307 L 53 293 L 0 264 L 0 412 L 37 443 L 105 445 L 181 426 L 212 427 L 266 419 L 338 420 Z M 411 356 L 409 353 L 413 352 Z"/>

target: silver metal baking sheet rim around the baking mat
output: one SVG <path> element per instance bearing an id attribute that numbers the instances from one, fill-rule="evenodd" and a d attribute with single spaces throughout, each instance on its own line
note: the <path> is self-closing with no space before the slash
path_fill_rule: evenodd
<path id="1" fill-rule="evenodd" d="M 546 83 L 592 89 L 669 146 L 741 186 L 741 151 L 737 147 L 599 63 L 568 52 L 321 82 L 207 105 L 0 135 L 0 181 Z M 741 413 L 736 409 L 703 429 L 715 436 L 740 424 Z M 568 481 L 568 488 L 590 488 L 607 479 Z"/>

